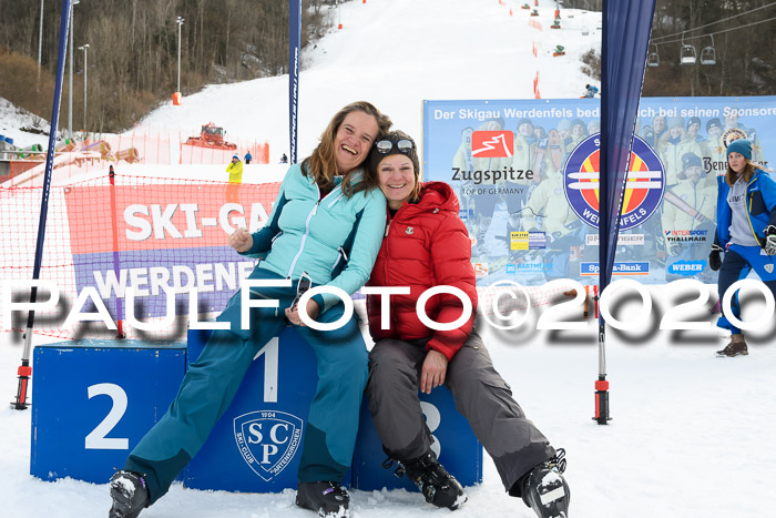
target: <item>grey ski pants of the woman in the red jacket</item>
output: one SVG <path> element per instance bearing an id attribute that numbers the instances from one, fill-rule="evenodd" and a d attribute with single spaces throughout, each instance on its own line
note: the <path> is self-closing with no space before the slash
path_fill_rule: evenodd
<path id="1" fill-rule="evenodd" d="M 433 440 L 418 398 L 426 342 L 384 339 L 369 354 L 369 410 L 386 454 L 396 460 L 420 457 Z M 448 364 L 445 385 L 493 458 L 504 488 L 521 496 L 514 483 L 555 450 L 525 418 L 476 332 Z"/>

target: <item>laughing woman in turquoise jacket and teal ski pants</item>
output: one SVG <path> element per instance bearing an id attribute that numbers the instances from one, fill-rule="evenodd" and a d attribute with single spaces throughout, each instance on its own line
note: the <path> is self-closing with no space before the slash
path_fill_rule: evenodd
<path id="1" fill-rule="evenodd" d="M 300 278 L 353 294 L 369 278 L 386 224 L 386 200 L 376 177 L 361 169 L 372 143 L 390 120 L 367 102 L 355 102 L 329 122 L 320 143 L 289 167 L 269 221 L 253 234 L 229 236 L 241 254 L 262 258 L 249 280 L 251 298 L 274 299 L 277 307 L 251 307 L 242 328 L 242 290 L 216 318 L 214 331 L 193 363 L 175 400 L 130 454 L 111 481 L 111 518 L 134 518 L 165 495 L 196 455 L 229 406 L 258 351 L 290 323 L 318 362 L 318 386 L 307 418 L 296 504 L 319 516 L 347 516 L 349 496 L 340 486 L 350 467 L 361 395 L 367 383 L 367 349 L 354 317 L 335 331 L 316 331 L 292 306 Z M 334 294 L 315 295 L 307 315 L 318 323 L 344 314 Z"/>

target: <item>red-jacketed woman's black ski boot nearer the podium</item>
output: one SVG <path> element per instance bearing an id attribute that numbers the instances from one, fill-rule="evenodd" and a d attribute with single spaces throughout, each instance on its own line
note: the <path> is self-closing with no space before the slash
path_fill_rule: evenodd
<path id="1" fill-rule="evenodd" d="M 390 467 L 390 460 L 387 460 Z M 437 507 L 446 507 L 450 510 L 460 508 L 467 501 L 463 488 L 456 480 L 456 477 L 447 473 L 441 464 L 437 461 L 437 455 L 428 450 L 422 457 L 411 461 L 397 460 L 399 467 L 394 471 L 397 477 L 407 474 L 410 480 L 418 486 L 420 492 L 426 497 L 426 501 Z"/>

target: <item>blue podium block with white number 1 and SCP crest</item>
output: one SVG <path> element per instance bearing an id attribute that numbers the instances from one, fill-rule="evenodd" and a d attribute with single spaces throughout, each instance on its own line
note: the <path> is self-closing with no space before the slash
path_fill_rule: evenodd
<path id="1" fill-rule="evenodd" d="M 210 334 L 188 332 L 188 364 L 200 356 Z M 232 405 L 184 470 L 184 485 L 241 492 L 296 488 L 317 384 L 315 353 L 286 327 L 256 355 Z"/>

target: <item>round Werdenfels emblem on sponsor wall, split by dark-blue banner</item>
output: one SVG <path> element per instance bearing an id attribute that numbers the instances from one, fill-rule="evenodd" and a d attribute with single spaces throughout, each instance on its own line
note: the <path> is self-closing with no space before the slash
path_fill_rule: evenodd
<path id="1" fill-rule="evenodd" d="M 599 227 L 599 154 L 601 134 L 579 143 L 563 167 L 563 191 L 574 213 L 593 228 Z M 665 190 L 665 169 L 660 158 L 640 136 L 633 139 L 627 181 L 623 195 L 620 230 L 633 228 L 650 219 Z"/>

